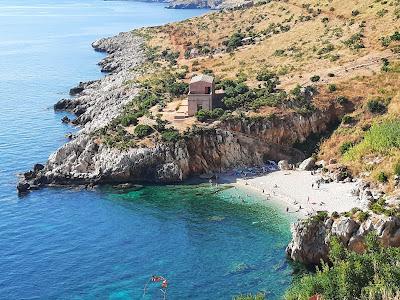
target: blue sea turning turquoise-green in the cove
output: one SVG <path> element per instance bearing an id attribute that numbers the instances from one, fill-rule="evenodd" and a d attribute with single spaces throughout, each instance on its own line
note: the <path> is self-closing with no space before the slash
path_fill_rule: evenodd
<path id="1" fill-rule="evenodd" d="M 101 76 L 92 41 L 201 13 L 129 1 L 0 1 L 0 299 L 141 299 L 153 274 L 168 278 L 169 299 L 256 291 L 274 299 L 288 286 L 290 220 L 255 196 L 241 203 L 241 191 L 15 191 L 15 175 L 75 130 L 52 105 Z M 146 299 L 161 299 L 156 287 Z"/>

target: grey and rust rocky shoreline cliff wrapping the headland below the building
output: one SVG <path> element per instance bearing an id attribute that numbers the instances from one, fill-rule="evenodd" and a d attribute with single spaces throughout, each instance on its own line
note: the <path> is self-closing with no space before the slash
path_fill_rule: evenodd
<path id="1" fill-rule="evenodd" d="M 192 131 L 176 143 L 158 141 L 154 147 L 112 148 L 94 133 L 110 124 L 138 93 L 132 79 L 138 75 L 145 54 L 142 39 L 133 33 L 101 39 L 93 47 L 108 53 L 99 63 L 107 76 L 80 83 L 71 90 L 76 97 L 55 105 L 57 110 L 74 113 L 77 117 L 71 122 L 81 130 L 44 166 L 21 175 L 19 191 L 53 184 L 176 182 L 194 174 L 260 165 L 266 159 L 299 161 L 304 155 L 293 148 L 294 143 L 325 132 L 342 114 L 332 106 L 307 116 L 292 113 L 233 119 Z"/>

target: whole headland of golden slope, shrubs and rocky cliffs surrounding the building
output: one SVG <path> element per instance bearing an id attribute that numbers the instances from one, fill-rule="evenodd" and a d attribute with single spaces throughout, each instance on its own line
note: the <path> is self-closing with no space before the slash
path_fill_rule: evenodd
<path id="1" fill-rule="evenodd" d="M 314 153 L 393 191 L 399 18 L 397 0 L 264 1 L 97 41 L 110 74 L 56 105 L 83 130 L 51 157 L 43 184 L 179 181 Z M 225 97 L 187 117 L 200 73 Z M 375 147 L 381 128 L 391 134 Z"/>

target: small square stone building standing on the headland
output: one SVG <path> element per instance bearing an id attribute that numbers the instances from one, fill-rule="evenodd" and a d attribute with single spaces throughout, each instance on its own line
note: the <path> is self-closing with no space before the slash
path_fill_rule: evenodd
<path id="1" fill-rule="evenodd" d="M 212 110 L 214 99 L 214 77 L 204 74 L 193 77 L 189 83 L 188 116 L 194 116 L 200 109 Z"/>

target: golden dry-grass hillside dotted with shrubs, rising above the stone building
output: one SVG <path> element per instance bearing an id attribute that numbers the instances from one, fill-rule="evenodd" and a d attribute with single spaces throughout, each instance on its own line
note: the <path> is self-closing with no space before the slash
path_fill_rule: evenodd
<path id="1" fill-rule="evenodd" d="M 288 95 L 298 85 L 312 86 L 310 103 L 263 97 L 246 99 L 251 102 L 246 105 L 233 101 L 229 109 L 268 117 L 342 106 L 344 112 L 337 113 L 342 121 L 326 133 L 330 137 L 324 136 L 318 155 L 376 181 L 382 171 L 393 179 L 397 145 L 390 153 L 363 148 L 351 158 L 344 148 L 360 143 L 372 123 L 398 117 L 399 30 L 399 1 L 289 0 L 214 12 L 140 33 L 160 66 L 165 68 L 165 55 L 175 55 L 170 69 L 182 71 L 186 82 L 194 73 L 210 73 L 250 89 L 265 85 L 263 79 L 269 84 L 279 78 L 277 89 Z"/>

